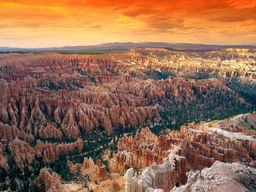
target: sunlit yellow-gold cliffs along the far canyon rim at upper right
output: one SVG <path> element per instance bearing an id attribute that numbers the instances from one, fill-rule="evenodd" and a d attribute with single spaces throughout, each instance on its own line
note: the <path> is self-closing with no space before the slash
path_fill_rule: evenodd
<path id="1" fill-rule="evenodd" d="M 216 77 L 218 75 L 249 79 L 256 77 L 255 70 L 248 67 L 255 69 L 255 49 L 226 48 L 204 53 L 184 53 L 165 49 L 138 48 L 135 49 L 135 53 L 151 55 L 149 57 L 151 60 L 148 58 L 146 62 L 145 58 L 140 58 L 141 65 L 165 69 L 177 76 Z"/>

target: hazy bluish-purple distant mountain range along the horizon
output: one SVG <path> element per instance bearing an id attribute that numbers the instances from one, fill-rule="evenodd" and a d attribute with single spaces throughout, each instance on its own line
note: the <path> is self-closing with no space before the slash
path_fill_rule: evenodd
<path id="1" fill-rule="evenodd" d="M 162 47 L 172 48 L 176 50 L 218 50 L 222 48 L 256 48 L 256 45 L 203 45 L 192 43 L 167 43 L 167 42 L 111 42 L 100 45 L 86 46 L 64 46 L 64 47 L 46 47 L 46 48 L 16 48 L 16 47 L 0 47 L 0 51 L 72 51 L 72 50 L 118 50 L 132 49 L 138 47 Z"/>

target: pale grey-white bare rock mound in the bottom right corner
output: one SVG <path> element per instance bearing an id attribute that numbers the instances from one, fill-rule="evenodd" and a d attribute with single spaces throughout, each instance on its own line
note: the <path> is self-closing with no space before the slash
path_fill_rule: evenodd
<path id="1" fill-rule="evenodd" d="M 186 185 L 173 188 L 178 191 L 256 191 L 256 169 L 239 163 L 216 161 L 210 168 L 188 172 Z"/>

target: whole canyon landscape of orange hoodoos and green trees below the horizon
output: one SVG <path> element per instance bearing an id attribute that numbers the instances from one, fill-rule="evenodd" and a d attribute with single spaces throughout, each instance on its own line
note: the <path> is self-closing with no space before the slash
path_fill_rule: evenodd
<path id="1" fill-rule="evenodd" d="M 255 49 L 1 53 L 0 191 L 256 191 L 255 110 Z"/>

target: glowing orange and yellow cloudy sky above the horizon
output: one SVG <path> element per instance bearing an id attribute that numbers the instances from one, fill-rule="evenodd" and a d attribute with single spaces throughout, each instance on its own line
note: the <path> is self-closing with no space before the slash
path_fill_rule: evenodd
<path id="1" fill-rule="evenodd" d="M 0 0 L 0 47 L 256 44 L 256 0 Z"/>

